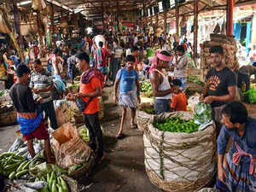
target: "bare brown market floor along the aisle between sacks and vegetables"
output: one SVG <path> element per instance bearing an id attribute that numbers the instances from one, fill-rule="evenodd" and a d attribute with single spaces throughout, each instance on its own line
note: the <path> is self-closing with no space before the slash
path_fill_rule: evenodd
<path id="1" fill-rule="evenodd" d="M 102 122 L 106 159 L 93 174 L 82 180 L 84 192 L 160 192 L 149 182 L 144 166 L 143 133 L 130 129 L 130 111 L 125 122 L 124 140 L 117 141 L 120 108 L 113 103 L 113 88 L 104 89 L 105 118 Z M 0 154 L 15 141 L 18 125 L 0 127 Z M 90 187 L 89 187 L 90 186 Z"/>

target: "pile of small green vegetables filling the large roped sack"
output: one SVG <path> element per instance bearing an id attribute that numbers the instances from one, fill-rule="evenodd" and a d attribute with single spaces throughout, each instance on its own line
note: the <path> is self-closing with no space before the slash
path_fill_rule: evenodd
<path id="1" fill-rule="evenodd" d="M 170 131 L 170 132 L 186 132 L 192 133 L 198 131 L 199 125 L 195 124 L 194 119 L 185 121 L 183 119 L 166 119 L 162 122 L 156 122 L 154 124 L 156 128 L 160 131 Z"/>

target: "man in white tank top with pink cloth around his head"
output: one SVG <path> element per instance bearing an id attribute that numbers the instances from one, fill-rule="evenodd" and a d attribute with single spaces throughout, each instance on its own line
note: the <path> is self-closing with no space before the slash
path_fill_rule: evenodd
<path id="1" fill-rule="evenodd" d="M 157 51 L 149 69 L 154 99 L 154 111 L 157 114 L 171 112 L 172 88 L 163 69 L 168 67 L 172 56 L 166 51 Z"/>

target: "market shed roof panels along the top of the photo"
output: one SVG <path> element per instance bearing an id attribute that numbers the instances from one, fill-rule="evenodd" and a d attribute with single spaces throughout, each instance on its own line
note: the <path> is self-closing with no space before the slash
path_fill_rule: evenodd
<path id="1" fill-rule="evenodd" d="M 170 0 L 166 0 L 170 1 Z M 199 12 L 207 12 L 213 9 L 226 9 L 228 0 L 199 0 Z M 0 3 L 9 2 L 10 0 L 0 0 Z M 31 0 L 18 1 L 20 6 L 29 8 Z M 148 9 L 152 6 L 158 6 L 156 0 L 47 0 L 48 3 L 54 4 L 55 14 L 68 10 L 73 13 L 81 13 L 88 20 L 102 20 L 102 15 L 106 13 L 116 13 L 123 10 Z M 235 0 L 235 6 L 255 3 L 253 0 Z M 194 0 L 186 0 L 179 5 L 179 15 L 193 15 Z M 175 17 L 175 6 L 167 10 L 167 18 Z"/>

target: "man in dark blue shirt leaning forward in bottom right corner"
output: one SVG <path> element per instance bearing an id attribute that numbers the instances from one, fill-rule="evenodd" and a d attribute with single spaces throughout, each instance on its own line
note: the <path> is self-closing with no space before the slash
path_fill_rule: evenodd
<path id="1" fill-rule="evenodd" d="M 218 136 L 218 178 L 232 192 L 256 191 L 256 119 L 248 117 L 241 102 L 230 102 L 222 111 Z M 232 145 L 225 155 L 230 137 Z"/>

